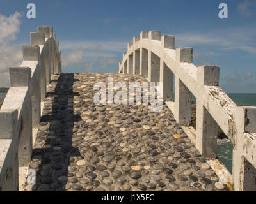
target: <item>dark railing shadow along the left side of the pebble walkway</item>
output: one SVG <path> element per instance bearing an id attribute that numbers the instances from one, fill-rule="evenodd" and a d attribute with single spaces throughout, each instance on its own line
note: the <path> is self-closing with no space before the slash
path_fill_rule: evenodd
<path id="1" fill-rule="evenodd" d="M 58 80 L 51 80 L 56 87 L 50 88 L 46 97 L 53 97 L 53 101 L 45 101 L 33 149 L 33 163 L 41 158 L 33 191 L 65 191 L 67 178 L 72 177 L 72 173 L 68 173 L 72 157 L 83 157 L 76 143 L 72 145 L 74 129 L 78 128 L 74 122 L 81 120 L 73 110 L 73 99 L 78 95 L 73 92 L 75 81 L 74 73 L 61 74 Z M 36 145 L 40 142 L 42 148 Z"/>

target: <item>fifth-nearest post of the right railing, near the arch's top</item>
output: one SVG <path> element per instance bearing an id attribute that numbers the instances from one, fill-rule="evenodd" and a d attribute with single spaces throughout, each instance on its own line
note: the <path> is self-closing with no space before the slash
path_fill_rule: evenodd
<path id="1" fill-rule="evenodd" d="M 149 31 L 149 40 L 161 40 L 161 31 Z M 160 60 L 156 54 L 151 52 L 151 47 L 148 49 L 148 81 L 159 82 L 160 80 Z"/>

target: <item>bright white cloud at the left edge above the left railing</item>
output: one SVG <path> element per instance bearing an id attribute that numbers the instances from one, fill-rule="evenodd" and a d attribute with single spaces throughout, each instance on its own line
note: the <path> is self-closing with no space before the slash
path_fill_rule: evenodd
<path id="1" fill-rule="evenodd" d="M 21 47 L 10 45 L 20 31 L 21 13 L 15 12 L 10 17 L 0 14 L 0 87 L 9 86 L 10 66 L 20 66 L 22 61 Z"/>

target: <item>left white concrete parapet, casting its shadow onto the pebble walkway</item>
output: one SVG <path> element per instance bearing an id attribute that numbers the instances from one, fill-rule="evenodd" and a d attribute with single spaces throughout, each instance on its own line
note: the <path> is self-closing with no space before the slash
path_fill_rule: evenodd
<path id="1" fill-rule="evenodd" d="M 10 67 L 10 89 L 0 110 L 0 191 L 17 191 L 24 184 L 41 101 L 52 75 L 61 73 L 59 43 L 52 26 L 38 27 L 30 39 L 31 45 L 22 45 L 21 65 Z"/>

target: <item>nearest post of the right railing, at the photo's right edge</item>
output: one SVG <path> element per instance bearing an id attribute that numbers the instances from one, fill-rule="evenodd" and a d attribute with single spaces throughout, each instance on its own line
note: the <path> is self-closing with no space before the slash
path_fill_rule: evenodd
<path id="1" fill-rule="evenodd" d="M 248 147 L 244 133 L 256 133 L 256 108 L 250 106 L 237 107 L 234 110 L 234 122 L 236 124 L 236 144 L 233 149 L 233 184 L 235 191 L 256 191 L 256 170 L 250 164 L 255 152 L 248 160 L 244 157 L 247 152 L 252 152 L 255 147 Z M 252 148 L 252 150 L 250 150 Z M 255 165 L 255 162 L 253 163 Z"/>

